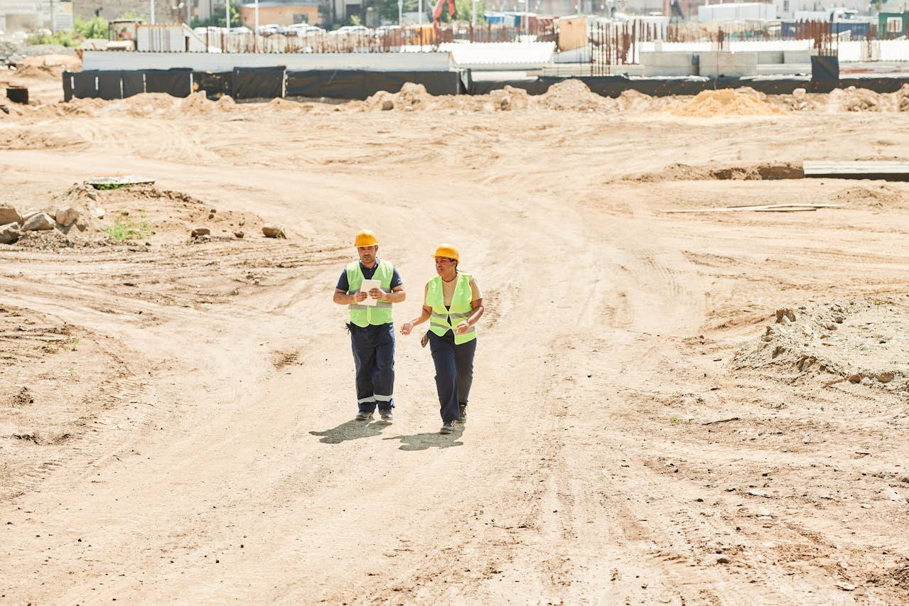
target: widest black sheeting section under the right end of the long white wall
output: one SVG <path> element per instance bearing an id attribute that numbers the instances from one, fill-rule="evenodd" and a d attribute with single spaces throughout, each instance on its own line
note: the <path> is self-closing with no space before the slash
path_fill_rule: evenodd
<path id="1" fill-rule="evenodd" d="M 397 93 L 406 83 L 423 84 L 429 94 L 466 94 L 459 72 L 371 72 L 315 70 L 287 72 L 287 96 L 359 99 L 379 91 Z"/>

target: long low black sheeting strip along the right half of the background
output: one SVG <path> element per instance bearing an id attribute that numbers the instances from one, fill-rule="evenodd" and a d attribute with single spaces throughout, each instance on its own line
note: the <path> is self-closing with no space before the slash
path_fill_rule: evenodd
<path id="1" fill-rule="evenodd" d="M 522 88 L 528 94 L 544 94 L 549 87 L 568 78 L 539 77 L 535 80 L 473 81 L 470 94 L 489 94 L 491 91 L 504 88 L 506 85 Z M 834 88 L 866 88 L 875 93 L 894 93 L 903 84 L 909 84 L 909 77 L 880 78 L 834 78 L 833 80 L 814 81 L 804 76 L 779 77 L 723 77 L 723 78 L 629 78 L 623 75 L 591 76 L 577 78 L 587 84 L 596 94 L 617 97 L 623 91 L 633 90 L 651 96 L 668 96 L 670 94 L 698 94 L 701 91 L 721 88 L 742 88 L 749 86 L 764 94 L 792 94 L 796 88 L 804 88 L 809 93 L 824 93 Z"/>

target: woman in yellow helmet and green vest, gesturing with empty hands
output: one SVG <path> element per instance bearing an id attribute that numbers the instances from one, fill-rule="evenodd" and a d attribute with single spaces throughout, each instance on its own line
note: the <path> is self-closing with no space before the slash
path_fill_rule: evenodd
<path id="1" fill-rule="evenodd" d="M 455 422 L 467 420 L 467 396 L 474 382 L 476 324 L 483 315 L 483 294 L 474 276 L 458 271 L 460 255 L 451 244 L 435 249 L 435 273 L 426 283 L 423 310 L 405 323 L 401 334 L 429 320 L 429 348 L 435 363 L 435 387 L 439 392 L 442 433 L 454 431 Z M 425 343 L 424 343 L 425 344 Z"/>

